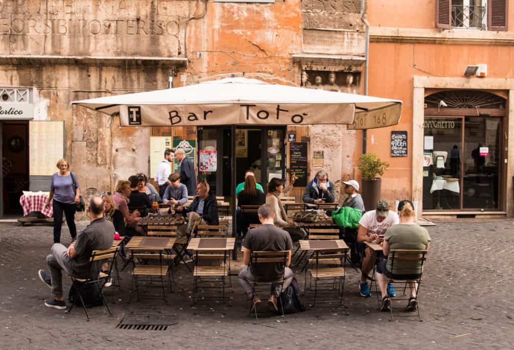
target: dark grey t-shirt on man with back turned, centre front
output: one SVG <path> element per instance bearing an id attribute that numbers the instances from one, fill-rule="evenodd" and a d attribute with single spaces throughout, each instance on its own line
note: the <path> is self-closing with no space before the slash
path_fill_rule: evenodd
<path id="1" fill-rule="evenodd" d="M 261 225 L 248 231 L 243 247 L 251 251 L 291 250 L 292 241 L 286 231 L 274 225 Z M 281 263 L 259 264 L 250 266 L 250 272 L 256 281 L 277 280 L 282 277 L 284 266 Z"/>

